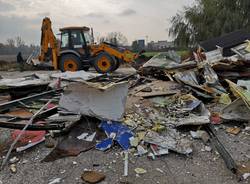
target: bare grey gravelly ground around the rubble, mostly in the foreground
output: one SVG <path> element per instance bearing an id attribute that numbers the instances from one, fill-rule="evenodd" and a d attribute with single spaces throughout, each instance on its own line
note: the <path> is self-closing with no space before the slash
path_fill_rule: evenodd
<path id="1" fill-rule="evenodd" d="M 36 73 L 51 73 L 53 71 L 36 71 Z M 134 70 L 120 69 L 117 72 L 131 73 Z M 6 78 L 25 76 L 32 72 L 0 72 Z M 237 123 L 235 125 L 238 125 Z M 229 151 L 238 164 L 250 161 L 250 134 L 241 131 L 238 135 L 229 135 L 225 132 L 228 124 L 216 127 L 220 141 Z M 248 124 L 248 126 L 250 126 Z M 187 137 L 191 140 L 189 132 Z M 67 157 L 49 163 L 41 163 L 51 149 L 44 143 L 16 156 L 20 159 L 17 163 L 17 173 L 12 174 L 7 165 L 0 172 L 2 184 L 48 184 L 55 178 L 61 178 L 60 183 L 83 183 L 81 174 L 86 169 L 102 171 L 106 179 L 101 184 L 235 184 L 238 178 L 229 171 L 220 155 L 213 148 L 211 152 L 204 151 L 201 140 L 193 141 L 193 153 L 183 156 L 170 152 L 170 154 L 150 160 L 147 156 L 135 157 L 129 155 L 129 176 L 123 176 L 122 149 L 112 147 L 108 152 L 95 149 L 81 153 L 77 157 Z M 211 145 L 210 145 L 211 146 Z M 14 155 L 13 155 L 14 156 Z M 2 158 L 1 158 L 2 160 Z M 96 166 L 98 165 L 98 166 Z M 147 173 L 136 176 L 135 168 L 144 168 Z M 250 183 L 245 180 L 240 183 Z"/>

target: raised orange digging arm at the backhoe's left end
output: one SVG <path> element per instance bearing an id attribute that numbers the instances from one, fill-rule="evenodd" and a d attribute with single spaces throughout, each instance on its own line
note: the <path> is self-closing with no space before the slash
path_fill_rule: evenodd
<path id="1" fill-rule="evenodd" d="M 58 48 L 56 37 L 51 28 L 51 21 L 48 17 L 45 17 L 42 22 L 41 28 L 41 51 L 39 55 L 39 61 L 47 61 L 48 58 L 51 58 L 54 69 L 58 69 Z M 52 55 L 51 55 L 52 54 Z"/>

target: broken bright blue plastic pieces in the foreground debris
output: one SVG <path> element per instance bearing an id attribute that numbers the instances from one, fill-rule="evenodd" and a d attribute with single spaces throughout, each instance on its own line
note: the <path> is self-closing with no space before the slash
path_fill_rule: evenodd
<path id="1" fill-rule="evenodd" d="M 100 128 L 104 130 L 106 135 L 109 137 L 108 139 L 112 140 L 111 145 L 113 140 L 115 140 L 122 147 L 122 149 L 128 150 L 130 148 L 129 138 L 133 137 L 133 133 L 127 126 L 122 125 L 120 122 L 102 121 L 102 123 L 100 124 Z M 106 146 L 106 141 L 107 139 L 103 140 L 101 143 L 98 143 L 96 145 L 96 149 L 105 151 L 110 148 L 111 146 Z"/>

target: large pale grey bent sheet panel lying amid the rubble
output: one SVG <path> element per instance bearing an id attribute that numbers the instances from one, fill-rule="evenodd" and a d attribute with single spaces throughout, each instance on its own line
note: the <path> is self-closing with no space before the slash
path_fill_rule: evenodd
<path id="1" fill-rule="evenodd" d="M 101 87 L 90 83 L 71 83 L 64 91 L 59 106 L 69 112 L 104 120 L 122 119 L 128 94 L 128 83 Z"/>

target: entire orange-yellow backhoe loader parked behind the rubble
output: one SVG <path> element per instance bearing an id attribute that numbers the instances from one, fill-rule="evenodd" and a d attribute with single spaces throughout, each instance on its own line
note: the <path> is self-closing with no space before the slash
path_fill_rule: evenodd
<path id="1" fill-rule="evenodd" d="M 50 62 L 55 70 L 87 71 L 91 66 L 99 73 L 115 71 L 121 62 L 130 63 L 138 58 L 128 49 L 110 43 L 94 44 L 88 27 L 64 27 L 60 29 L 58 42 L 52 30 L 51 21 L 45 17 L 42 22 L 41 49 L 38 60 Z"/>

